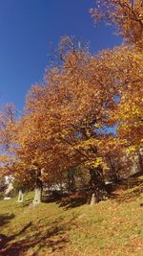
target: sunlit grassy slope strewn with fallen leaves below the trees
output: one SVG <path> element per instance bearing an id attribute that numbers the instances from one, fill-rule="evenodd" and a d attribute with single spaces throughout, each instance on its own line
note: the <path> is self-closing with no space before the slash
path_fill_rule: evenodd
<path id="1" fill-rule="evenodd" d="M 138 192 L 136 194 L 136 191 Z M 1 256 L 143 255 L 142 185 L 93 206 L 0 200 Z"/>

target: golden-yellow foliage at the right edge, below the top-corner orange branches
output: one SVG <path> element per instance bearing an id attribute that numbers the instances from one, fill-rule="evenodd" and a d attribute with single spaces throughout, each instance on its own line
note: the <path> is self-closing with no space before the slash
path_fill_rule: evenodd
<path id="1" fill-rule="evenodd" d="M 118 135 L 128 142 L 128 152 L 133 157 L 138 156 L 138 170 L 143 170 L 141 149 L 143 146 L 143 55 L 130 53 L 132 68 L 128 76 L 128 86 L 122 92 L 117 106 L 118 114 L 114 116 L 120 120 Z"/>

